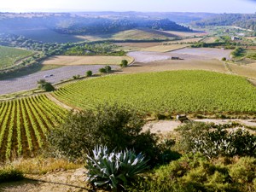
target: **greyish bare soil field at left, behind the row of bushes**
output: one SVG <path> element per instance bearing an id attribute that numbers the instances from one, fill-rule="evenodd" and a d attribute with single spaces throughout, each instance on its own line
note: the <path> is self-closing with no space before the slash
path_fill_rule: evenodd
<path id="1" fill-rule="evenodd" d="M 46 79 L 50 83 L 58 83 L 61 80 L 71 79 L 73 75 L 84 75 L 86 71 L 91 70 L 92 73 L 98 73 L 99 68 L 105 66 L 102 65 L 84 65 L 84 66 L 65 66 L 59 67 L 48 71 L 42 71 L 38 73 L 32 73 L 26 76 L 22 76 L 15 79 L 0 80 L 0 95 L 18 92 L 21 90 L 31 90 L 37 88 L 37 81 L 39 79 Z M 111 66 L 115 69 L 117 66 Z M 45 78 L 45 76 L 51 77 Z"/>

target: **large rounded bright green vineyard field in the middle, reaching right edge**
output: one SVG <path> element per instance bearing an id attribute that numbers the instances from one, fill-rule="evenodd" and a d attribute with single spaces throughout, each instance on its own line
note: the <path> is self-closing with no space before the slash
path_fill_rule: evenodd
<path id="1" fill-rule="evenodd" d="M 256 113 L 256 89 L 246 79 L 205 71 L 110 75 L 54 95 L 79 108 L 118 102 L 145 113 Z"/>

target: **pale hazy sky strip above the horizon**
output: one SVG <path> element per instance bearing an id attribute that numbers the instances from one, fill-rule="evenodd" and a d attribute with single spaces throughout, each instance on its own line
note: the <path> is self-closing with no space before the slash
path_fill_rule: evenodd
<path id="1" fill-rule="evenodd" d="M 255 13 L 256 0 L 2 0 L 0 11 Z"/>

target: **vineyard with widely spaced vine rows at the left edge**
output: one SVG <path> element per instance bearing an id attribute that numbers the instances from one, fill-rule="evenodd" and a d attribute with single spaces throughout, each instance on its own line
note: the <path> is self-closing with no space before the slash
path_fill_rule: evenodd
<path id="1" fill-rule="evenodd" d="M 44 95 L 0 102 L 0 159 L 34 154 L 66 114 Z"/>

